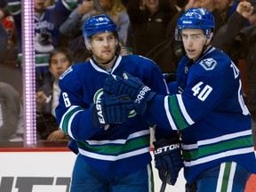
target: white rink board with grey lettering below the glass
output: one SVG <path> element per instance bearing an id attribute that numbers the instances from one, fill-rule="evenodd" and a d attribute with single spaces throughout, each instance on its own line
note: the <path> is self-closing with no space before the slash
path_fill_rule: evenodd
<path id="1" fill-rule="evenodd" d="M 0 159 L 0 191 L 20 192 L 22 190 L 16 188 L 18 185 L 23 191 L 27 188 L 26 192 L 68 192 L 68 184 L 63 184 L 63 180 L 67 183 L 67 179 L 70 179 L 76 155 L 69 151 L 0 152 Z M 153 172 L 155 191 L 158 192 L 162 182 L 155 168 Z M 41 185 L 41 182 L 44 184 Z M 167 185 L 165 192 L 182 192 L 185 191 L 184 186 L 185 180 L 180 171 L 176 185 Z"/>

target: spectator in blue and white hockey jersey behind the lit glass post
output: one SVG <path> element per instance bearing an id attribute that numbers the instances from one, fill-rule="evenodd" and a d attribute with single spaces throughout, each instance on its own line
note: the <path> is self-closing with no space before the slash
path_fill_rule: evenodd
<path id="1" fill-rule="evenodd" d="M 21 61 L 21 1 L 8 0 L 19 39 Z M 58 0 L 54 6 L 44 7 L 44 0 L 34 0 L 35 5 L 35 51 L 36 89 L 49 80 L 49 53 L 60 44 L 59 28 L 76 7 L 76 0 Z M 17 9 L 19 8 L 19 9 Z M 20 62 L 21 63 L 21 62 Z"/>

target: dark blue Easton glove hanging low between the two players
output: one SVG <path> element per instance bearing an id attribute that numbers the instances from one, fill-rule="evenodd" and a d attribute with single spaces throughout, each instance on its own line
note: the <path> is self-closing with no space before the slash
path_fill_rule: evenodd
<path id="1" fill-rule="evenodd" d="M 183 158 L 180 150 L 180 139 L 161 139 L 153 142 L 155 146 L 155 167 L 158 170 L 159 178 L 164 182 L 167 178 L 169 185 L 174 185 L 183 167 Z"/>

